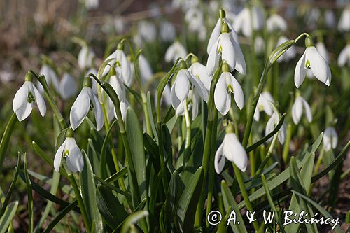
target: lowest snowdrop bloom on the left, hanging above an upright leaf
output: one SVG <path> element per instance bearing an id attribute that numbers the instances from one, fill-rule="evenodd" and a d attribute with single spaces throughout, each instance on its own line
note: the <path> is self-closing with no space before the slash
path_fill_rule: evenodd
<path id="1" fill-rule="evenodd" d="M 66 158 L 66 165 L 73 173 L 83 171 L 84 158 L 80 148 L 76 144 L 76 139 L 74 139 L 74 133 L 71 128 L 67 129 L 66 140 L 59 146 L 55 154 L 53 167 L 55 167 L 55 171 L 57 172 L 59 172 L 59 167 L 61 166 L 62 156 Z"/>

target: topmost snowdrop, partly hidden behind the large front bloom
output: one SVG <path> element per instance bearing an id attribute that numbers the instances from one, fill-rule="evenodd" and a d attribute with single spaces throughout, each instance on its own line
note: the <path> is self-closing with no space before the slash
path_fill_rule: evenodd
<path id="1" fill-rule="evenodd" d="M 232 38 L 237 42 L 237 44 L 239 44 L 237 33 L 235 29 L 233 29 L 231 21 L 226 18 L 225 10 L 220 10 L 220 14 L 221 14 L 221 18 L 219 18 L 218 21 L 216 22 L 215 27 L 211 32 L 211 35 L 208 41 L 208 46 L 207 46 L 208 54 L 211 48 L 213 47 L 214 43 L 218 40 L 219 36 L 221 35 L 222 22 L 225 22 L 226 24 L 228 24 L 229 33 L 231 34 Z"/>

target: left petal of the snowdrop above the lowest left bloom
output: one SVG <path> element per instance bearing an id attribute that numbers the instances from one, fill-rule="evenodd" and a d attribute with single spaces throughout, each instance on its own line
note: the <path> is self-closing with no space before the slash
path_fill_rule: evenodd
<path id="1" fill-rule="evenodd" d="M 69 119 L 73 130 L 79 127 L 90 110 L 88 88 L 90 87 L 83 87 L 83 90 L 81 90 L 80 94 L 76 98 L 76 101 L 74 101 L 73 106 L 71 106 Z"/>

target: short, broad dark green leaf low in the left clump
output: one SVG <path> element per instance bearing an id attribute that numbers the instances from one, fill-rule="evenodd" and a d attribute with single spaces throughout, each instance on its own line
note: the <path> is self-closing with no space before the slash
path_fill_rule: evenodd
<path id="1" fill-rule="evenodd" d="M 97 206 L 99 206 L 102 218 L 113 229 L 127 218 L 124 206 L 104 185 L 97 185 Z"/>

